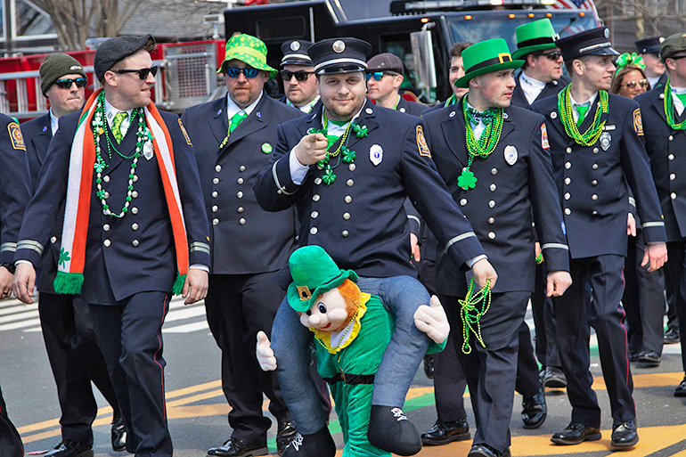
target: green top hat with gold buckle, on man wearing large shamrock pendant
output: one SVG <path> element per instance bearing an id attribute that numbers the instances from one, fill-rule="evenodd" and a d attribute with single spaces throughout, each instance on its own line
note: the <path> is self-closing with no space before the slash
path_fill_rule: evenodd
<path id="1" fill-rule="evenodd" d="M 470 79 L 501 69 L 519 69 L 524 61 L 513 61 L 507 42 L 493 38 L 470 45 L 462 51 L 465 75 L 455 81 L 456 87 L 469 87 Z"/>

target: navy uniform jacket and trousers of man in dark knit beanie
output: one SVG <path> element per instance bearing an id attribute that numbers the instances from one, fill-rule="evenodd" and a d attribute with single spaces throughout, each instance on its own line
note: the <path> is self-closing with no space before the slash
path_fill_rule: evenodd
<path id="1" fill-rule="evenodd" d="M 29 120 L 22 126 L 22 132 L 27 137 L 29 171 L 35 192 L 38 173 L 53 139 L 50 113 Z M 58 219 L 61 220 L 61 217 Z M 53 280 L 60 254 L 60 244 L 56 241 L 61 236 L 61 224 L 55 227 L 53 236 L 51 241 L 55 242 L 51 242 L 49 249 L 46 249 L 37 274 L 40 292 L 38 314 L 60 401 L 62 439 L 92 445 L 92 424 L 98 407 L 91 381 L 112 406 L 114 417 L 120 416 L 121 412 L 107 365 L 95 338 L 88 306 L 83 302 L 75 302 L 70 296 L 54 293 Z"/>

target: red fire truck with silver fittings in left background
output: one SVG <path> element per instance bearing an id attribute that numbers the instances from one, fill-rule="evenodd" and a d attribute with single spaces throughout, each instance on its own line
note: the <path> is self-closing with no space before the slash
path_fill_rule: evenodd
<path id="1" fill-rule="evenodd" d="M 93 94 L 100 87 L 93 70 L 95 49 L 68 54 L 86 70 L 86 97 Z M 181 114 L 190 106 L 216 98 L 224 89 L 216 77 L 224 55 L 223 40 L 159 44 L 151 53 L 152 64 L 161 69 L 151 90 L 152 101 L 163 110 Z M 44 58 L 45 54 L 34 54 L 0 59 L 0 112 L 20 121 L 47 112 L 49 105 L 41 94 L 38 75 Z"/>

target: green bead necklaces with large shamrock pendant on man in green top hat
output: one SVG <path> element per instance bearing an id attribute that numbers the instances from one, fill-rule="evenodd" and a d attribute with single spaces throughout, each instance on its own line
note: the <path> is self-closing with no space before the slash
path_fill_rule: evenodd
<path id="1" fill-rule="evenodd" d="M 471 163 L 477 157 L 486 158 L 491 155 L 500 141 L 503 123 L 502 108 L 493 109 L 495 111 L 493 121 L 488 123 L 484 131 L 481 132 L 481 136 L 479 136 L 477 140 L 471 124 L 472 122 L 474 124 L 478 124 L 478 122 L 470 113 L 470 110 L 467 106 L 467 97 L 468 95 L 465 95 L 462 99 L 462 115 L 464 116 L 464 130 L 467 140 L 467 151 L 470 153 L 470 160 L 467 163 L 467 167 L 462 169 L 461 175 L 457 178 L 457 185 L 459 185 L 465 191 L 474 189 L 477 186 L 477 176 L 470 171 Z"/>

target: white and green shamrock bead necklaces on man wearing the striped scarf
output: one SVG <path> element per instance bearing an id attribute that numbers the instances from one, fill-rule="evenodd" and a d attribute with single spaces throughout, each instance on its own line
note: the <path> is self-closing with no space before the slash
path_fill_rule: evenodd
<path id="1" fill-rule="evenodd" d="M 110 210 L 110 206 L 107 204 L 107 199 L 110 198 L 110 192 L 105 191 L 102 188 L 102 171 L 105 170 L 105 168 L 110 167 L 105 163 L 105 160 L 102 159 L 102 147 L 100 145 L 100 138 L 102 134 L 107 134 L 107 132 L 110 131 L 110 126 L 108 123 L 105 121 L 105 93 L 102 92 L 100 95 L 98 95 L 98 100 L 96 102 L 95 106 L 95 113 L 93 116 L 93 120 L 91 122 L 91 128 L 93 130 L 93 136 L 95 139 L 95 164 L 94 164 L 94 169 L 96 172 L 96 177 L 95 177 L 95 184 L 97 185 L 97 191 L 95 191 L 95 196 L 100 200 L 102 204 L 102 214 L 105 216 L 112 216 L 116 218 L 121 218 L 124 217 L 127 214 L 128 207 L 131 205 L 131 200 L 135 199 L 138 196 L 138 192 L 135 192 L 134 190 L 134 183 L 138 181 L 138 176 L 135 175 L 135 167 L 138 164 L 138 159 L 141 157 L 141 152 L 142 151 L 147 151 L 148 149 L 152 148 L 152 142 L 151 142 L 151 134 L 150 134 L 150 129 L 148 129 L 145 126 L 145 115 L 143 112 L 142 108 L 136 108 L 132 114 L 131 118 L 138 118 L 138 132 L 136 133 L 136 143 L 135 143 L 135 152 L 127 156 L 125 154 L 122 154 L 117 150 L 117 148 L 114 146 L 114 144 L 111 143 L 110 141 L 110 135 L 105 135 L 106 137 L 106 142 L 107 142 L 107 152 L 110 158 L 110 161 L 112 159 L 112 152 L 111 150 L 114 150 L 117 152 L 119 156 L 121 156 L 123 159 L 134 159 L 133 162 L 131 163 L 131 170 L 129 171 L 128 174 L 128 185 L 127 185 L 127 199 L 126 203 L 124 203 L 124 207 L 121 208 L 121 211 L 118 214 L 112 213 Z"/>

